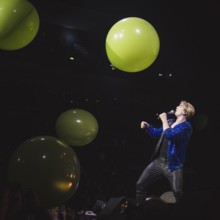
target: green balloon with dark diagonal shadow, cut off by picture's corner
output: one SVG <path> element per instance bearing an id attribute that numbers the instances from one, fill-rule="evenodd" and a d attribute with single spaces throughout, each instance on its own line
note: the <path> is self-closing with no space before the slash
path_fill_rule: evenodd
<path id="1" fill-rule="evenodd" d="M 0 49 L 17 50 L 28 45 L 39 30 L 39 15 L 26 0 L 0 2 Z"/>

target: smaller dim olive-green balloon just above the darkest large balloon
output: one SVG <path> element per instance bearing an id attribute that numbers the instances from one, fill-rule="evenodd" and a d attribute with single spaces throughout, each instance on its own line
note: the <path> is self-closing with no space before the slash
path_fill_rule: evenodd
<path id="1" fill-rule="evenodd" d="M 90 143 L 96 137 L 98 122 L 86 110 L 70 109 L 58 117 L 56 133 L 59 138 L 72 146 L 83 146 Z"/>

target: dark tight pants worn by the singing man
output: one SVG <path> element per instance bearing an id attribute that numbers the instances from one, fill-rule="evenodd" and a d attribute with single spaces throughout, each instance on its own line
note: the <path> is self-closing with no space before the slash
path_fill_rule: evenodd
<path id="1" fill-rule="evenodd" d="M 163 177 L 168 179 L 176 202 L 180 200 L 183 186 L 182 168 L 170 171 L 166 160 L 164 158 L 157 158 L 144 169 L 136 183 L 137 205 L 145 201 L 148 187 Z"/>

